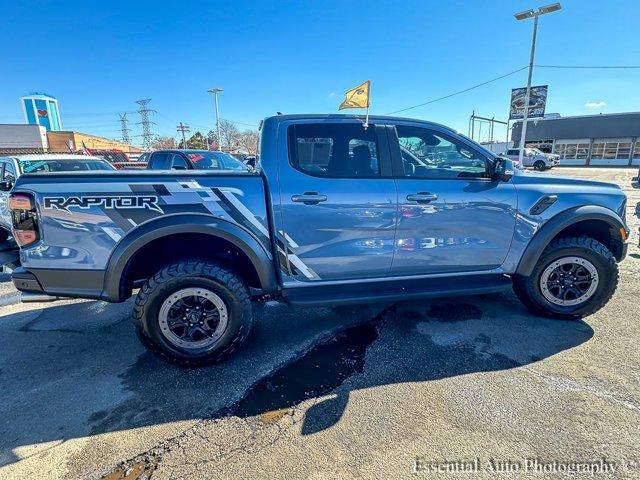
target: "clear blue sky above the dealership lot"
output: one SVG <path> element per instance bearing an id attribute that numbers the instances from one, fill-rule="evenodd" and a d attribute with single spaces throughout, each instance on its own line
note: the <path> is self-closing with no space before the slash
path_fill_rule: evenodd
<path id="1" fill-rule="evenodd" d="M 276 112 L 337 112 L 371 80 L 371 113 L 463 90 L 528 64 L 531 20 L 513 14 L 550 0 L 510 1 L 28 1 L 0 0 L 0 123 L 22 123 L 19 97 L 58 98 L 63 127 L 118 138 L 118 113 L 151 98 L 159 135 L 215 125 L 255 128 Z M 563 0 L 540 18 L 536 64 L 640 65 L 637 0 Z M 506 119 L 526 70 L 402 112 L 467 133 L 469 115 Z M 640 110 L 640 69 L 536 68 L 547 112 Z M 358 113 L 358 110 L 351 110 Z M 481 133 L 486 140 L 488 130 Z M 480 132 L 476 132 L 476 135 Z M 505 135 L 496 127 L 496 137 Z"/>

